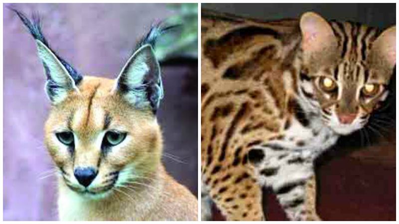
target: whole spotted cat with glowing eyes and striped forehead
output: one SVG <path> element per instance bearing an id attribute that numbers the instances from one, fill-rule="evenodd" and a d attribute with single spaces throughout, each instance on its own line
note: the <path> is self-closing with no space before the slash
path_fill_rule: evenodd
<path id="1" fill-rule="evenodd" d="M 320 220 L 313 162 L 387 98 L 396 26 L 201 13 L 201 219 L 214 202 L 265 220 L 266 187 L 288 219 Z"/>

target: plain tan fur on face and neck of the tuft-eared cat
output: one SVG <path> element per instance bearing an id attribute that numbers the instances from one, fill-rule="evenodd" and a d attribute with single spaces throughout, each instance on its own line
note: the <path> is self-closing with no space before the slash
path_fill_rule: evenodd
<path id="1" fill-rule="evenodd" d="M 170 177 L 161 163 L 162 133 L 155 116 L 149 108 L 138 110 L 130 106 L 114 87 L 114 80 L 85 76 L 79 92 L 71 91 L 66 100 L 52 106 L 45 124 L 45 143 L 57 167 L 70 180 L 74 167 L 96 167 L 96 189 L 100 192 L 107 174 L 135 164 L 132 175 L 137 176 L 136 183 L 117 187 L 103 199 L 87 199 L 60 178 L 60 220 L 197 220 L 197 199 Z M 128 135 L 121 146 L 102 156 L 99 144 L 105 132 L 106 113 L 112 117 L 108 130 L 118 128 Z M 68 125 L 78 139 L 72 158 L 60 149 L 62 144 L 54 134 L 66 130 Z"/>

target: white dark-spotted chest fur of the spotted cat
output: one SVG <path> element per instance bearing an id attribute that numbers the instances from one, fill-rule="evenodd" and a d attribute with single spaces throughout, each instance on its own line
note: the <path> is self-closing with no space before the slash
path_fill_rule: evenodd
<path id="1" fill-rule="evenodd" d="M 337 139 L 338 135 L 317 117 L 309 119 L 306 127 L 293 119 L 284 138 L 259 147 L 265 154 L 255 169 L 260 183 L 278 189 L 310 178 L 314 174 L 313 161 Z"/>

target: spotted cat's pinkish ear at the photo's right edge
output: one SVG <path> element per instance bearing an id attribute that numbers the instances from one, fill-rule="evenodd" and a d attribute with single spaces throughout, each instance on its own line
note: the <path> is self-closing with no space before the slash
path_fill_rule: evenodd
<path id="1" fill-rule="evenodd" d="M 396 26 L 384 30 L 373 42 L 368 62 L 376 69 L 392 72 L 396 64 Z"/>

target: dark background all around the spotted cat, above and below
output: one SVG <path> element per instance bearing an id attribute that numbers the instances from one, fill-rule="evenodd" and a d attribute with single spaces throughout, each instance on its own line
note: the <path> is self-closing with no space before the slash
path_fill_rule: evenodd
<path id="1" fill-rule="evenodd" d="M 395 3 L 203 3 L 202 8 L 264 20 L 315 11 L 382 29 L 396 24 Z M 362 131 L 340 138 L 317 161 L 318 213 L 332 221 L 396 220 L 396 68 L 390 97 Z M 266 192 L 265 192 L 266 193 Z M 286 220 L 274 196 L 264 196 L 269 220 Z M 220 214 L 215 220 L 223 220 Z"/>

